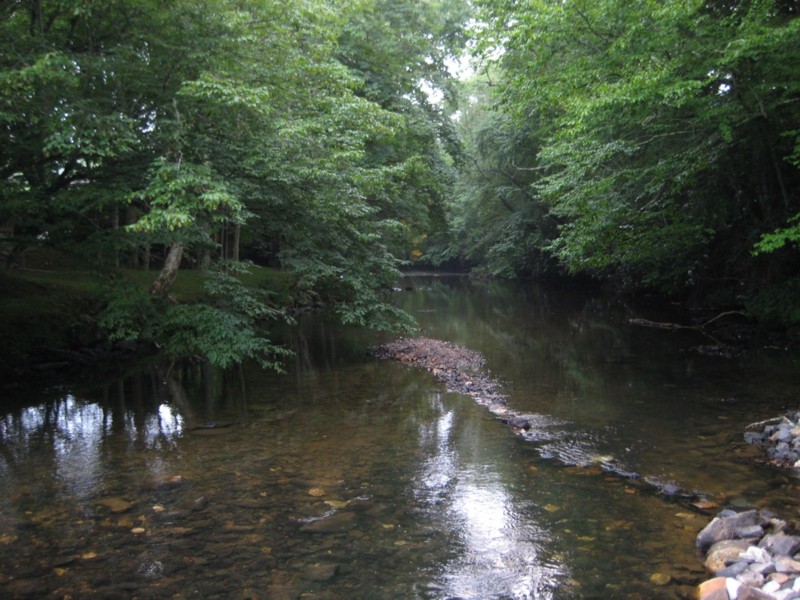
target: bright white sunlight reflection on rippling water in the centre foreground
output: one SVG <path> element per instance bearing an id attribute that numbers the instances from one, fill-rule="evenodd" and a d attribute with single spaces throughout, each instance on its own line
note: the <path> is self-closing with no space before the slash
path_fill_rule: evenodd
<path id="1" fill-rule="evenodd" d="M 541 542 L 550 536 L 531 519 L 529 503 L 509 491 L 491 453 L 466 448 L 462 454 L 455 437 L 453 411 L 420 428 L 428 459 L 415 479 L 416 495 L 427 500 L 432 518 L 459 545 L 441 568 L 443 591 L 460 598 L 551 598 L 556 581 L 568 572 L 543 559 Z"/>

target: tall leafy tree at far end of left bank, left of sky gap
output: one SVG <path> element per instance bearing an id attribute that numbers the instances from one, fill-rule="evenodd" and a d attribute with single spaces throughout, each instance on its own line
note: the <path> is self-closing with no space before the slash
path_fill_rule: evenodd
<path id="1" fill-rule="evenodd" d="M 359 82 L 356 93 L 396 119 L 390 134 L 367 140 L 360 187 L 381 217 L 402 225 L 384 238 L 399 257 L 419 257 L 428 250 L 419 241 L 446 229 L 452 164 L 461 158 L 447 64 L 464 47 L 466 9 L 460 0 L 374 0 L 341 30 L 337 58 Z"/>

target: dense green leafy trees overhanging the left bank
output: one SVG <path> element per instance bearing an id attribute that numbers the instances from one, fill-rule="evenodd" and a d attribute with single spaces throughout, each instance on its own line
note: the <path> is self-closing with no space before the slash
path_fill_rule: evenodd
<path id="1" fill-rule="evenodd" d="M 414 240 L 442 226 L 458 153 L 423 89 L 452 97 L 464 7 L 1 3 L 4 262 L 51 246 L 161 268 L 157 298 L 115 295 L 109 330 L 219 364 L 271 351 L 256 323 L 274 315 L 213 290 L 212 303 L 171 304 L 181 265 L 279 266 L 345 322 L 409 326 L 388 294 Z"/>

